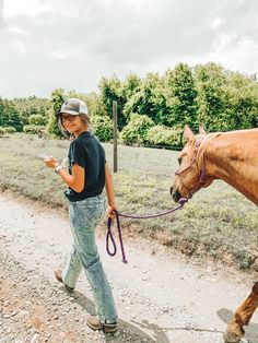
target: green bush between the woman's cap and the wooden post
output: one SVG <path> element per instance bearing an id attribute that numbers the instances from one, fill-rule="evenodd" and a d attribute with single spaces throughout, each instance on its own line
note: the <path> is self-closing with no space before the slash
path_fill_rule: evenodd
<path id="1" fill-rule="evenodd" d="M 102 142 L 113 139 L 113 120 L 107 116 L 95 116 L 92 120 L 94 133 Z"/>

